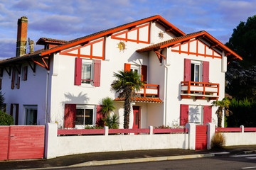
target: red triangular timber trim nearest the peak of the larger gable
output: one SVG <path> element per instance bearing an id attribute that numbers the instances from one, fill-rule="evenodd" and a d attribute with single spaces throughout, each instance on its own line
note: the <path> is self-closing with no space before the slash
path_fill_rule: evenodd
<path id="1" fill-rule="evenodd" d="M 144 24 L 143 26 L 138 26 L 138 27 L 135 27 L 135 28 L 132 28 L 131 30 L 124 30 L 122 31 L 121 33 L 117 33 L 117 34 L 114 34 L 114 35 L 111 35 L 111 38 L 112 39 L 116 39 L 116 40 L 125 40 L 125 42 L 127 41 L 131 41 L 131 42 L 137 42 L 139 44 L 140 43 L 146 43 L 146 44 L 149 44 L 149 36 L 148 36 L 148 40 L 147 41 L 142 41 L 142 40 L 139 40 L 139 29 L 140 28 L 144 28 L 144 27 L 149 27 L 149 23 L 146 23 Z M 149 28 L 150 29 L 150 28 Z M 129 32 L 132 32 L 134 30 L 137 30 L 137 40 L 133 40 L 133 39 L 129 39 L 128 38 L 128 33 Z M 119 35 L 122 35 L 122 34 L 125 34 L 125 38 L 118 38 L 117 36 Z"/>

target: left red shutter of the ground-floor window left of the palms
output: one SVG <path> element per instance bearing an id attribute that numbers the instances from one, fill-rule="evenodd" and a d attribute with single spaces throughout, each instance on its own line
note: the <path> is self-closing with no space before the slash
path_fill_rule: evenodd
<path id="1" fill-rule="evenodd" d="M 76 104 L 65 104 L 64 128 L 75 128 Z"/>

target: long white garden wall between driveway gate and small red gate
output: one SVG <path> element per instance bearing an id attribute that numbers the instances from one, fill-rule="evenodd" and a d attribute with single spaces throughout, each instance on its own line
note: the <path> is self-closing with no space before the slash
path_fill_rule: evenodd
<path id="1" fill-rule="evenodd" d="M 46 158 L 90 152 L 142 149 L 188 149 L 188 134 L 57 136 L 57 124 L 46 126 Z"/>

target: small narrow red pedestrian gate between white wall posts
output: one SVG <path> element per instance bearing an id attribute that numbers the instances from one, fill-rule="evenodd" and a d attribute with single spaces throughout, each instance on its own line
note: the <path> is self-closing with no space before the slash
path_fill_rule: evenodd
<path id="1" fill-rule="evenodd" d="M 207 149 L 207 125 L 196 125 L 196 150 Z"/>

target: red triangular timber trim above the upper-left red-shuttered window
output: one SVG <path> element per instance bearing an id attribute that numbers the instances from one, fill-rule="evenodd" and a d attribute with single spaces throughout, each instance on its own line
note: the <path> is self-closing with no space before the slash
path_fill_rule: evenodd
<path id="1" fill-rule="evenodd" d="M 93 45 L 96 44 L 97 42 L 102 42 L 102 56 L 94 56 L 93 55 Z M 90 46 L 90 55 L 82 55 L 81 54 L 81 48 L 82 47 L 87 47 L 87 46 Z M 78 54 L 73 54 L 73 53 L 68 53 L 68 52 L 71 52 L 71 51 L 74 51 L 74 50 L 78 50 Z M 101 60 L 104 60 L 105 59 L 105 38 L 102 38 L 100 40 L 95 40 L 93 42 L 89 42 L 89 43 L 86 43 L 85 45 L 80 45 L 78 47 L 73 47 L 73 48 L 70 48 L 69 50 L 65 50 L 63 52 L 60 52 L 60 55 L 69 55 L 69 56 L 75 56 L 75 57 L 86 57 L 86 58 L 90 58 L 90 59 L 101 59 Z"/>

